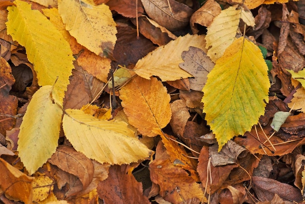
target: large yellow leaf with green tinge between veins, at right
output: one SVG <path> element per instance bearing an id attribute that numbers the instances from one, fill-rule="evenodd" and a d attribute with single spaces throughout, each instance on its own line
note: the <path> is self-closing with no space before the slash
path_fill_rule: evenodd
<path id="1" fill-rule="evenodd" d="M 202 90 L 202 102 L 219 150 L 234 136 L 250 130 L 264 114 L 270 87 L 267 70 L 260 49 L 244 37 L 216 61 Z"/>

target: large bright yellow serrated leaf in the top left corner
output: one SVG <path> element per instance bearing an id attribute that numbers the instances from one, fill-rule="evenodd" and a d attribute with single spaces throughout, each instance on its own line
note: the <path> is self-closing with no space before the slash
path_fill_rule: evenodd
<path id="1" fill-rule="evenodd" d="M 53 85 L 62 103 L 72 74 L 73 56 L 70 45 L 55 26 L 31 4 L 16 0 L 8 7 L 7 33 L 25 47 L 27 58 L 34 64 L 38 84 Z"/>

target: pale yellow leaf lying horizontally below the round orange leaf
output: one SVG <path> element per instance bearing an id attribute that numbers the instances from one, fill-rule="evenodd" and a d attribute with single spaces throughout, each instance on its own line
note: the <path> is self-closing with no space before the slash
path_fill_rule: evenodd
<path id="1" fill-rule="evenodd" d="M 81 110 L 67 109 L 62 126 L 76 151 L 99 163 L 123 164 L 146 159 L 152 154 L 134 137 L 127 123 L 102 121 Z"/>

